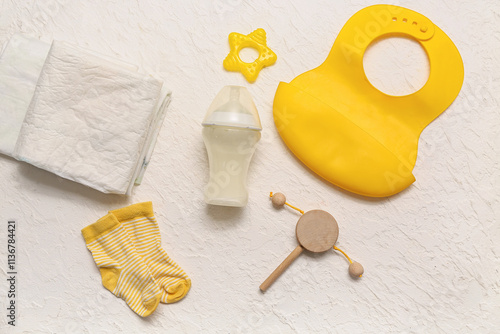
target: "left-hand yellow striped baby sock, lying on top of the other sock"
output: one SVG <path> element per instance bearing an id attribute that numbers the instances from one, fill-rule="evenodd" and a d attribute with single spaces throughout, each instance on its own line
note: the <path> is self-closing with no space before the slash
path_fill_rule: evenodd
<path id="1" fill-rule="evenodd" d="M 153 313 L 160 302 L 160 286 L 116 217 L 107 214 L 82 234 L 101 272 L 102 285 L 141 317 Z"/>

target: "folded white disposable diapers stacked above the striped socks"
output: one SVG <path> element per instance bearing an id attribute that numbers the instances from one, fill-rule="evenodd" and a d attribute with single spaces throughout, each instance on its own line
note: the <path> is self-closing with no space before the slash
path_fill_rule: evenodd
<path id="1" fill-rule="evenodd" d="M 170 100 L 162 86 L 67 43 L 15 35 L 0 57 L 0 152 L 105 193 L 129 194 Z"/>

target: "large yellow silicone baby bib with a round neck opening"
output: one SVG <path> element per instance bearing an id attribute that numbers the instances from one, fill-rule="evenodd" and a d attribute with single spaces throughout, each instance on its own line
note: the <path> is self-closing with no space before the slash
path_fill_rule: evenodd
<path id="1" fill-rule="evenodd" d="M 417 40 L 427 53 L 427 83 L 406 96 L 373 87 L 363 54 L 381 37 Z M 462 58 L 446 34 L 412 10 L 376 5 L 357 12 L 340 31 L 326 61 L 274 97 L 274 122 L 291 151 L 331 183 L 365 196 L 390 196 L 415 181 L 422 130 L 456 98 Z"/>

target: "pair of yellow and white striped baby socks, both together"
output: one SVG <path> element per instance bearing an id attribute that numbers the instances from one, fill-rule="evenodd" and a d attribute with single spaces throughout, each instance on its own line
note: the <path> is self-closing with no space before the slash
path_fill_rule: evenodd
<path id="1" fill-rule="evenodd" d="M 161 247 L 151 202 L 109 211 L 82 234 L 104 287 L 138 315 L 146 317 L 158 303 L 174 303 L 189 291 L 191 280 Z"/>

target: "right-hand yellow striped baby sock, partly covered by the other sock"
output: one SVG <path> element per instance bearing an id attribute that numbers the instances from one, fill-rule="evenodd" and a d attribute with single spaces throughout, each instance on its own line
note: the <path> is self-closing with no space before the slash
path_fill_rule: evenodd
<path id="1" fill-rule="evenodd" d="M 151 202 L 138 203 L 110 211 L 127 230 L 137 252 L 147 263 L 162 289 L 161 302 L 181 300 L 191 287 L 191 279 L 161 247 L 158 223 Z"/>

